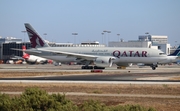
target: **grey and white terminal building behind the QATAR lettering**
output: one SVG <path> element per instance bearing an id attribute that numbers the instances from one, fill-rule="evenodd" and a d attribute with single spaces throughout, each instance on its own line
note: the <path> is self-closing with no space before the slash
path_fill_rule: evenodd
<path id="1" fill-rule="evenodd" d="M 111 41 L 108 44 L 109 47 L 148 47 L 153 49 L 159 49 L 166 54 L 170 54 L 170 44 L 168 44 L 168 36 L 159 35 L 140 35 L 139 40 L 129 40 L 125 42 Z"/>

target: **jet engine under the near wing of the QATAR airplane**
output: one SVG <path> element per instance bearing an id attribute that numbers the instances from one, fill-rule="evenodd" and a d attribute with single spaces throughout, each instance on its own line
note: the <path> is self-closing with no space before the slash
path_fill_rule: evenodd
<path id="1" fill-rule="evenodd" d="M 99 67 L 111 67 L 113 62 L 111 57 L 98 57 L 94 63 Z"/>

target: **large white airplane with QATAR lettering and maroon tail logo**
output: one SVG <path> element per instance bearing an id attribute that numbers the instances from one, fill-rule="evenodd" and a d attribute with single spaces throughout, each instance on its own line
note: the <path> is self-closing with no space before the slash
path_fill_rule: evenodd
<path id="1" fill-rule="evenodd" d="M 128 66 L 129 63 L 145 63 L 155 70 L 159 62 L 177 58 L 177 56 L 169 58 L 164 52 L 152 48 L 50 47 L 29 23 L 24 25 L 32 45 L 32 49 L 25 52 L 61 63 L 81 62 L 84 64 L 81 69 L 105 69 L 113 64 Z"/>

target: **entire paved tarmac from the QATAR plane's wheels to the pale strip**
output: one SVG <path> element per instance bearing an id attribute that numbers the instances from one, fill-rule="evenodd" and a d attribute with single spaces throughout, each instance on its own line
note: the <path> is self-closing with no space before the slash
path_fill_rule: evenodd
<path id="1" fill-rule="evenodd" d="M 59 83 L 135 83 L 135 84 L 180 84 L 180 66 L 161 66 L 157 70 L 151 68 L 130 67 L 124 70 L 116 67 L 104 70 L 105 73 L 91 73 L 90 70 L 80 70 L 78 66 L 55 67 L 53 65 L 2 65 L 0 71 L 5 72 L 72 72 L 68 75 L 48 75 L 48 76 L 22 76 L 22 77 L 4 77 L 0 82 L 59 82 Z M 74 74 L 74 72 L 89 72 L 86 74 Z"/>

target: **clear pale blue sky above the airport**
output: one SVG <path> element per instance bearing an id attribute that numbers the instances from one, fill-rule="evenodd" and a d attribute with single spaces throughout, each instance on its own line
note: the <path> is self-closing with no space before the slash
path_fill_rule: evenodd
<path id="1" fill-rule="evenodd" d="M 180 0 L 0 0 L 1 37 L 28 41 L 24 23 L 57 43 L 138 40 L 148 32 L 173 46 L 180 43 Z"/>

